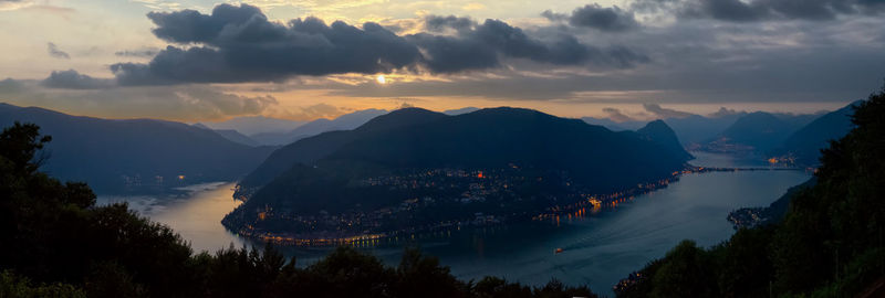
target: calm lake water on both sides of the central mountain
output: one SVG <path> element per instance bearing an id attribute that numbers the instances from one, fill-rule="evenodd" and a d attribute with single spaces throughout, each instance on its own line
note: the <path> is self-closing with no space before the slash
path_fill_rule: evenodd
<path id="1" fill-rule="evenodd" d="M 691 163 L 696 166 L 766 166 L 723 155 L 693 153 L 697 159 Z M 395 265 L 403 247 L 419 246 L 462 279 L 494 275 L 541 285 L 558 278 L 572 285 L 587 284 L 594 291 L 612 296 L 611 287 L 617 280 L 664 256 L 683 240 L 710 246 L 728 238 L 735 232 L 726 221 L 729 211 L 768 205 L 809 178 L 801 171 L 687 174 L 666 189 L 585 219 L 562 216 L 559 224 L 531 222 L 382 241 L 362 249 Z M 238 204 L 231 199 L 232 185 L 201 184 L 189 195 L 176 199 L 100 198 L 100 202 L 128 201 L 142 214 L 171 226 L 191 242 L 195 251 L 214 252 L 231 243 L 238 247 L 249 243 L 227 232 L 219 222 Z M 564 252 L 554 254 L 556 248 Z M 315 262 L 330 249 L 283 247 L 300 266 Z"/>

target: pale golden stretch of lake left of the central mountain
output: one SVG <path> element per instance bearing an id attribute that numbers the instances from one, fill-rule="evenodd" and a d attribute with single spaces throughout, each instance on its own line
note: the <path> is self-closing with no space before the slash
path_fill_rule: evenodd
<path id="1" fill-rule="evenodd" d="M 101 196 L 98 204 L 127 202 L 138 214 L 164 223 L 190 242 L 195 252 L 215 252 L 243 238 L 228 232 L 221 219 L 241 202 L 233 200 L 233 183 L 215 182 L 181 188 L 183 196 Z"/>

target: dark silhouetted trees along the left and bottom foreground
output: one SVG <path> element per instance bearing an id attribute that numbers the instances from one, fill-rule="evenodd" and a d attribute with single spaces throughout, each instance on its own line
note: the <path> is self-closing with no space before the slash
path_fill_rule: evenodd
<path id="1" fill-rule="evenodd" d="M 0 297 L 595 297 L 551 281 L 530 288 L 487 277 L 456 279 L 406 251 L 398 267 L 341 247 L 295 267 L 263 251 L 194 254 L 168 227 L 125 204 L 95 205 L 84 183 L 39 172 L 48 137 L 34 125 L 0 134 Z"/>

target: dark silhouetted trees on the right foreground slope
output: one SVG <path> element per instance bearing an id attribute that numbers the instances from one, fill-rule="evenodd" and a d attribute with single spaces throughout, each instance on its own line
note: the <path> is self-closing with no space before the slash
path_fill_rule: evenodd
<path id="1" fill-rule="evenodd" d="M 618 297 L 855 297 L 885 278 L 885 88 L 823 150 L 818 183 L 781 223 L 709 249 L 684 242 L 622 283 Z"/>

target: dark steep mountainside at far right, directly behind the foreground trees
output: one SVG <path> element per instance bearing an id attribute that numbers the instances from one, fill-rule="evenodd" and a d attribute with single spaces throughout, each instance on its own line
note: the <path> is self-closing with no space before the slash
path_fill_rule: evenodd
<path id="1" fill-rule="evenodd" d="M 792 156 L 800 164 L 816 164 L 821 156 L 820 150 L 826 148 L 830 140 L 840 139 L 851 131 L 853 128 L 851 115 L 854 114 L 854 107 L 861 103 L 863 100 L 851 103 L 802 127 L 790 135 L 774 155 Z"/>

